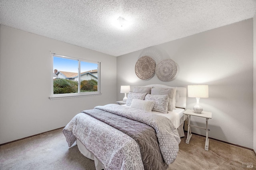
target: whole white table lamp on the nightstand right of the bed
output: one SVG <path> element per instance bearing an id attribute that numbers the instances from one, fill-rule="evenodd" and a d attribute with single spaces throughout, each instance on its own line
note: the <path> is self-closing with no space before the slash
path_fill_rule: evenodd
<path id="1" fill-rule="evenodd" d="M 202 113 L 203 107 L 199 105 L 200 98 L 208 98 L 208 85 L 188 85 L 188 97 L 196 98 L 196 105 L 193 107 L 195 113 Z"/>

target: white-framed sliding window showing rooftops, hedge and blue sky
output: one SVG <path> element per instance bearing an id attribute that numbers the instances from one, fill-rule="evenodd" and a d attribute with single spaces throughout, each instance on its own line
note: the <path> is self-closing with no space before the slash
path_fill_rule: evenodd
<path id="1" fill-rule="evenodd" d="M 50 99 L 100 94 L 100 62 L 52 53 L 52 96 Z"/>

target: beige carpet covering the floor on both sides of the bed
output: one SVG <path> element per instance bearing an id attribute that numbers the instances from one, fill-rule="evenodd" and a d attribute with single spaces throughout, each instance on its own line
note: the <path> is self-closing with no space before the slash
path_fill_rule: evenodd
<path id="1" fill-rule="evenodd" d="M 168 170 L 243 170 L 256 169 L 252 150 L 192 135 L 189 144 L 183 137 L 178 156 Z M 244 164 L 243 164 L 244 163 Z M 246 163 L 253 168 L 246 168 Z M 1 170 L 95 170 L 94 161 L 84 157 L 76 145 L 68 148 L 62 129 L 0 146 Z"/>

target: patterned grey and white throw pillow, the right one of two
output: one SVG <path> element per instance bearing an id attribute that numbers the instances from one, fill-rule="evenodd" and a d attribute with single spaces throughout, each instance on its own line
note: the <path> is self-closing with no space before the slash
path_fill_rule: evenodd
<path id="1" fill-rule="evenodd" d="M 169 96 L 166 95 L 153 95 L 147 94 L 145 100 L 154 101 L 153 111 L 159 111 L 161 113 L 168 113 Z"/>

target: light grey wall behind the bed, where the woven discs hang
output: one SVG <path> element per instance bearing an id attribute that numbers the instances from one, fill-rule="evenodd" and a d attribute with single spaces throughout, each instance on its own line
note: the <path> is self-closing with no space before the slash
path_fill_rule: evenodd
<path id="1" fill-rule="evenodd" d="M 178 65 L 176 78 L 162 82 L 155 75 L 140 80 L 134 71 L 143 55 L 155 61 L 172 59 Z M 156 62 L 157 63 L 157 62 Z M 183 86 L 208 84 L 209 98 L 200 99 L 204 111 L 212 112 L 209 136 L 253 148 L 253 20 L 245 20 L 189 37 L 156 45 L 117 58 L 117 100 L 122 100 L 121 85 L 166 84 Z M 187 98 L 192 109 L 195 98 Z M 192 117 L 195 125 L 205 119 Z M 192 132 L 205 135 L 202 129 Z M 193 137 L 192 139 L 193 140 Z"/>

